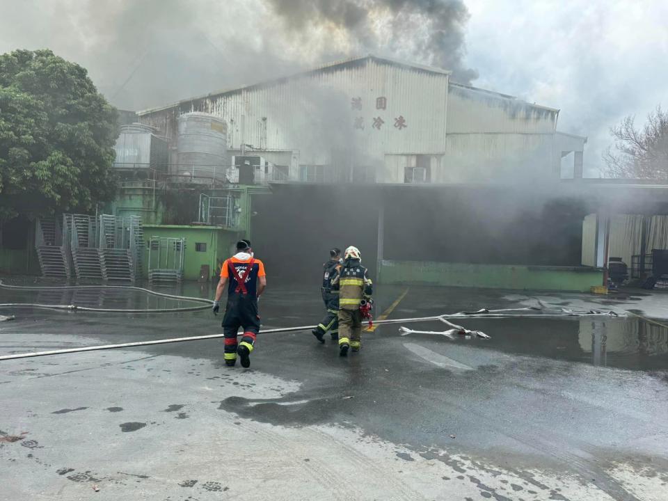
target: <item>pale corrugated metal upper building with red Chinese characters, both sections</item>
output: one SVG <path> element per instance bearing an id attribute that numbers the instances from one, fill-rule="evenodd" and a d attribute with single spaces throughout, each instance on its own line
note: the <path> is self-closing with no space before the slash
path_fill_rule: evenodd
<path id="1" fill-rule="evenodd" d="M 292 181 L 476 182 L 558 179 L 586 138 L 559 111 L 455 84 L 435 67 L 365 56 L 138 113 L 175 148 L 182 113 L 228 123 L 230 154 L 260 154 Z"/>

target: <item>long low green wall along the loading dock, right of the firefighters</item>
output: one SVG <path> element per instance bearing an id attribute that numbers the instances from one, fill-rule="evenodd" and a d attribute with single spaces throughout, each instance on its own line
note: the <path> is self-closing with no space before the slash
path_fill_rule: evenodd
<path id="1" fill-rule="evenodd" d="M 383 260 L 379 263 L 379 271 L 379 282 L 383 284 L 589 292 L 592 285 L 603 283 L 603 270 L 587 267 Z"/>

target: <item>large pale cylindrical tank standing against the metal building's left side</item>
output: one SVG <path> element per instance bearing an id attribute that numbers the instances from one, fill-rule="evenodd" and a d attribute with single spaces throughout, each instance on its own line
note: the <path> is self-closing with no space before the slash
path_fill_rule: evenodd
<path id="1" fill-rule="evenodd" d="M 211 184 L 225 179 L 230 166 L 228 125 L 209 113 L 184 113 L 179 117 L 177 166 L 183 182 Z"/>

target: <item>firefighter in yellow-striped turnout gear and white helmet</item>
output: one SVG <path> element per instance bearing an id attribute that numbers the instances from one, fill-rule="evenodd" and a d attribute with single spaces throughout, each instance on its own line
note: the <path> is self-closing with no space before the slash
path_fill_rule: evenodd
<path id="1" fill-rule="evenodd" d="M 339 354 L 362 347 L 362 312 L 360 303 L 371 300 L 373 283 L 367 269 L 361 264 L 358 248 L 350 246 L 344 254 L 344 263 L 332 280 L 332 289 L 339 291 Z"/>

